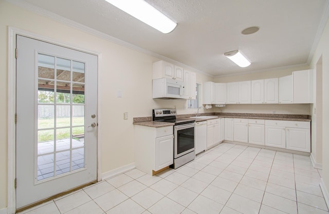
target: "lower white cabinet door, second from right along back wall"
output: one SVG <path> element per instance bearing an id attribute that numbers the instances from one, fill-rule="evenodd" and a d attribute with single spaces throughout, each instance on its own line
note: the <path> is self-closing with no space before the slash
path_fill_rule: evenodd
<path id="1" fill-rule="evenodd" d="M 265 126 L 265 146 L 286 148 L 285 127 Z"/>

